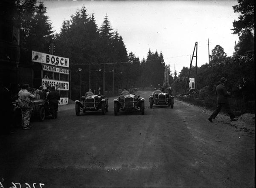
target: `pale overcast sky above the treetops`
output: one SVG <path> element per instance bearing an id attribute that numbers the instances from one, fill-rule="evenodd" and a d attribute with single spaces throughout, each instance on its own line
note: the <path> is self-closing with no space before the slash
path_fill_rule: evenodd
<path id="1" fill-rule="evenodd" d="M 236 0 L 43 0 L 46 15 L 56 33 L 64 20 L 84 5 L 87 14 L 94 13 L 98 28 L 105 16 L 122 36 L 127 52 L 140 60 L 146 59 L 148 50 L 162 51 L 166 65 L 177 74 L 189 67 L 195 42 L 198 42 L 198 67 L 208 63 L 209 54 L 216 45 L 232 56 L 238 35 L 232 34 Z M 195 51 L 196 54 L 196 51 Z M 194 55 L 195 55 L 194 54 Z M 192 61 L 195 66 L 195 57 Z"/>

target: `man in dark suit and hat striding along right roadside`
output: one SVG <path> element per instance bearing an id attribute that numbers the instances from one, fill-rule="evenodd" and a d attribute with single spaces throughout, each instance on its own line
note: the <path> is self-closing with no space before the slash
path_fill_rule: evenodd
<path id="1" fill-rule="evenodd" d="M 210 122 L 212 122 L 212 119 L 215 119 L 215 117 L 218 115 L 218 113 L 221 111 L 221 108 L 225 108 L 227 111 L 227 114 L 230 116 L 230 121 L 236 121 L 234 113 L 230 110 L 230 105 L 228 103 L 228 96 L 230 96 L 230 92 L 228 92 L 225 88 L 225 83 L 227 82 L 227 79 L 222 77 L 220 80 L 220 84 L 216 87 L 216 94 L 217 94 L 217 109 L 212 113 L 212 115 L 208 118 Z"/>

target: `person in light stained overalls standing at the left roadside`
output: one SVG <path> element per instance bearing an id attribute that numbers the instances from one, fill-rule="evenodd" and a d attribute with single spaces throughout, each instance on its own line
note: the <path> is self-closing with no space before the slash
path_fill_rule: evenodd
<path id="1" fill-rule="evenodd" d="M 24 84 L 21 89 L 22 90 L 19 92 L 19 105 L 22 110 L 23 130 L 27 130 L 31 128 L 29 125 L 32 114 L 32 106 L 30 105 L 30 102 L 35 96 L 28 91 L 29 84 Z"/>

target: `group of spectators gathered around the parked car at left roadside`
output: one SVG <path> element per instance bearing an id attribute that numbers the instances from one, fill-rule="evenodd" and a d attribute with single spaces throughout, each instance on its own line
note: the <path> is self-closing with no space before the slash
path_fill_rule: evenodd
<path id="1" fill-rule="evenodd" d="M 43 86 L 30 88 L 29 84 L 17 85 L 16 91 L 10 91 L 10 85 L 0 84 L 0 97 L 3 99 L 3 105 L 0 105 L 0 118 L 4 122 L 0 126 L 0 132 L 4 134 L 14 133 L 15 121 L 13 120 L 14 108 L 13 103 L 17 103 L 21 109 L 23 130 L 31 129 L 30 118 L 32 115 L 31 101 L 34 99 L 44 99 L 49 102 L 49 111 L 53 119 L 58 117 L 58 100 L 60 95 L 55 87 L 44 89 Z M 48 109 L 46 109 L 48 110 Z"/>

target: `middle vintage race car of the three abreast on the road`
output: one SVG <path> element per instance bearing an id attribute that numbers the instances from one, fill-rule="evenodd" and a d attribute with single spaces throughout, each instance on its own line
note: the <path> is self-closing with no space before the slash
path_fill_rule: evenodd
<path id="1" fill-rule="evenodd" d="M 137 111 L 140 110 L 144 115 L 145 99 L 136 94 L 121 94 L 117 99 L 114 99 L 114 115 L 121 111 Z"/>

